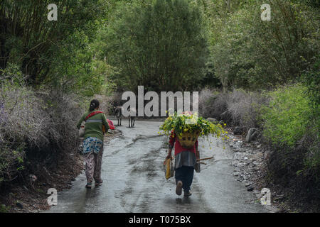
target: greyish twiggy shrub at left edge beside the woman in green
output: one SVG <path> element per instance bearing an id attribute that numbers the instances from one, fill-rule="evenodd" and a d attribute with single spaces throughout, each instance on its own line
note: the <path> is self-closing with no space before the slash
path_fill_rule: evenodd
<path id="1" fill-rule="evenodd" d="M 39 176 L 42 167 L 54 167 L 78 150 L 76 97 L 36 92 L 17 75 L 0 84 L 0 183 L 28 172 Z"/>

